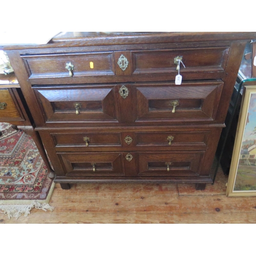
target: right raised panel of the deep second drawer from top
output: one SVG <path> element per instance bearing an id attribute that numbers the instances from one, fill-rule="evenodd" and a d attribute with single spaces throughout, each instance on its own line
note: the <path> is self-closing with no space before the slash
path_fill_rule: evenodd
<path id="1" fill-rule="evenodd" d="M 223 82 L 138 86 L 137 121 L 212 121 L 216 117 L 222 88 Z"/>

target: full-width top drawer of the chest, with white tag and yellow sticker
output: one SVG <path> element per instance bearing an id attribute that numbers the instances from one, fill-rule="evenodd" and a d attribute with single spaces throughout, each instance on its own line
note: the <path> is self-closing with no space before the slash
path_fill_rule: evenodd
<path id="1" fill-rule="evenodd" d="M 183 80 L 225 76 L 229 46 L 22 56 L 32 84 Z"/>

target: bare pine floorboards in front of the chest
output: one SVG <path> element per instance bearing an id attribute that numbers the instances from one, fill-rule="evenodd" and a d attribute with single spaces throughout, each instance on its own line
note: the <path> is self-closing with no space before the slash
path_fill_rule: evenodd
<path id="1" fill-rule="evenodd" d="M 55 209 L 0 223 L 256 223 L 255 197 L 226 197 L 228 177 L 219 170 L 204 191 L 194 184 L 56 184 Z"/>

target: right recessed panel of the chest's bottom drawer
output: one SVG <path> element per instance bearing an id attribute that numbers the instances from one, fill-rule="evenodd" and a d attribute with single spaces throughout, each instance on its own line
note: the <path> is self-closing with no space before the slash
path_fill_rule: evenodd
<path id="1" fill-rule="evenodd" d="M 138 176 L 199 176 L 204 152 L 138 153 Z"/>

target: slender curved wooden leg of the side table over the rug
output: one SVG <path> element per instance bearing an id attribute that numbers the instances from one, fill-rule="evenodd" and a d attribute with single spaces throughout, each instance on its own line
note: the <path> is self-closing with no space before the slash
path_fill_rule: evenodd
<path id="1" fill-rule="evenodd" d="M 55 177 L 55 173 L 54 173 L 53 169 L 51 168 L 51 165 L 50 165 L 49 160 L 46 155 L 44 144 L 42 144 L 42 141 L 41 141 L 41 138 L 40 138 L 38 132 L 36 132 L 34 130 L 33 126 L 17 126 L 17 127 L 19 130 L 24 131 L 26 134 L 30 135 L 33 138 L 33 140 L 36 144 L 36 147 L 42 157 L 42 160 L 44 160 L 46 167 L 49 171 L 49 178 L 53 179 Z"/>

